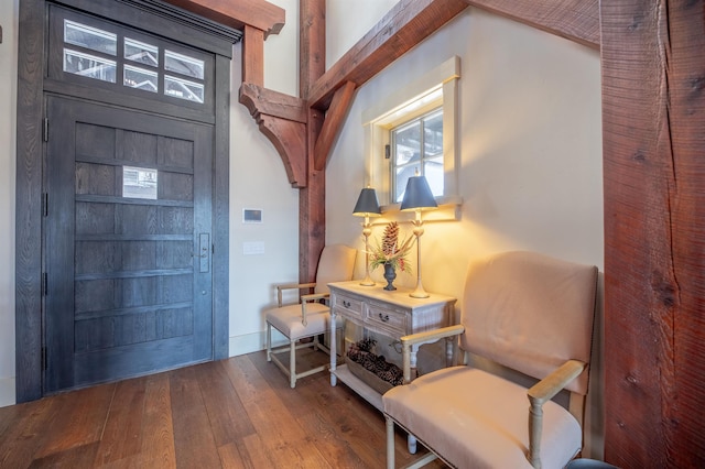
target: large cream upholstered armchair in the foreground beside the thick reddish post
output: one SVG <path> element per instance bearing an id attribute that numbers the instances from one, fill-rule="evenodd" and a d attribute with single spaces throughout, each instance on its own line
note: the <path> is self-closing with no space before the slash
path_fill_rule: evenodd
<path id="1" fill-rule="evenodd" d="M 393 388 L 382 397 L 387 467 L 394 467 L 394 424 L 431 450 L 410 467 L 436 457 L 459 468 L 565 467 L 583 447 L 596 285 L 595 266 L 532 252 L 474 262 L 460 325 L 401 339 L 405 381 L 412 345 L 457 335 L 465 363 L 469 353 L 484 357 L 535 384 L 458 366 Z M 552 401 L 563 389 L 567 408 Z"/>

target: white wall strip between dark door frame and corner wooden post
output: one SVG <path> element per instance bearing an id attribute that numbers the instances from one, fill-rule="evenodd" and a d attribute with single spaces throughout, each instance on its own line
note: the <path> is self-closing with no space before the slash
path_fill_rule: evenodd
<path id="1" fill-rule="evenodd" d="M 280 34 L 264 42 L 264 86 L 299 95 L 299 1 L 270 0 L 286 10 Z M 242 45 L 234 48 L 230 97 L 230 356 L 264 348 L 263 312 L 276 303 L 274 284 L 299 279 L 299 189 L 281 156 L 238 102 Z M 263 223 L 242 223 L 243 208 L 263 209 Z M 264 253 L 245 255 L 243 243 Z M 276 338 L 275 338 L 276 339 Z"/>

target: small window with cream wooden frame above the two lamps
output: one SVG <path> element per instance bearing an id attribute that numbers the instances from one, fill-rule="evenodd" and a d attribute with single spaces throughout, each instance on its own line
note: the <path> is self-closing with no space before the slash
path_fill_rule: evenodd
<path id="1" fill-rule="evenodd" d="M 416 172 L 426 177 L 438 205 L 462 205 L 456 154 L 459 78 L 460 59 L 454 56 L 362 112 L 365 184 L 377 190 L 387 216 L 399 209 L 406 181 Z"/>

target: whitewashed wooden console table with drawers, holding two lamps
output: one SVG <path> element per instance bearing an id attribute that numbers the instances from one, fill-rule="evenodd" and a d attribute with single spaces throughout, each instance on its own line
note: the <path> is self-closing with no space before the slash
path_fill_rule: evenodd
<path id="1" fill-rule="evenodd" d="M 451 326 L 455 298 L 430 293 L 427 298 L 412 298 L 411 290 L 386 291 L 381 285 L 362 286 L 359 281 L 329 283 L 330 288 L 330 385 L 337 380 L 348 385 L 366 401 L 382 411 L 382 396 L 354 375 L 346 364 L 336 363 L 336 318 L 344 317 L 368 331 L 394 340 L 402 336 Z M 345 342 L 344 342 L 345 343 Z M 411 368 L 416 368 L 419 346 L 412 347 Z M 340 353 L 344 358 L 345 350 Z M 446 360 L 453 360 L 453 342 L 446 341 Z M 414 373 L 412 373 L 413 375 Z M 415 452 L 410 439 L 410 450 Z M 413 450 L 412 450 L 413 449 Z"/>

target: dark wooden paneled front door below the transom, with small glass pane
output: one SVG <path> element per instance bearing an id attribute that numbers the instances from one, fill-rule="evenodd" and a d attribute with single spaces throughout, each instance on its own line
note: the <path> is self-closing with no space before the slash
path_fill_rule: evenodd
<path id="1" fill-rule="evenodd" d="M 47 98 L 45 392 L 213 358 L 213 128 Z"/>

